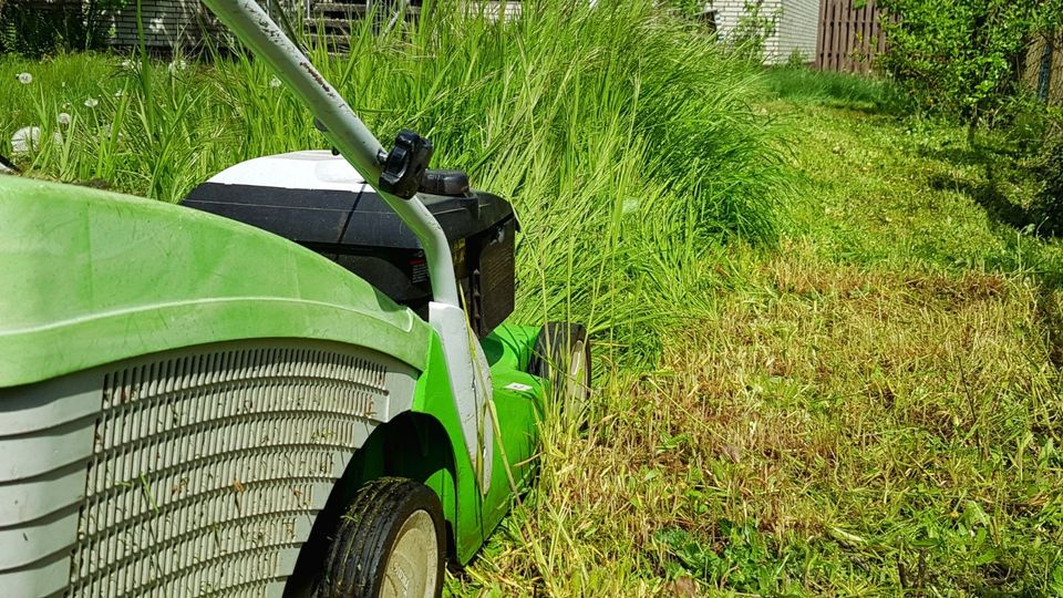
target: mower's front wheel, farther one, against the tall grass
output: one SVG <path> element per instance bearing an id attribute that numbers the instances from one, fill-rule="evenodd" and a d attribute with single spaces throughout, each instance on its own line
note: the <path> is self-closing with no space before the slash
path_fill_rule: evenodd
<path id="1" fill-rule="evenodd" d="M 550 394 L 563 409 L 577 413 L 590 395 L 590 341 L 587 329 L 569 322 L 547 322 L 535 339 L 528 373 L 550 381 Z"/>

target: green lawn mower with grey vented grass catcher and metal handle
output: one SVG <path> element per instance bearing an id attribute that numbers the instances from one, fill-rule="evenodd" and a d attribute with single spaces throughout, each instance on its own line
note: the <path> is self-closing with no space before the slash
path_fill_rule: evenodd
<path id="1" fill-rule="evenodd" d="M 580 326 L 514 326 L 509 204 L 385 151 L 254 0 L 206 2 L 342 157 L 184 206 L 0 176 L 0 586 L 442 591 L 534 475 Z"/>

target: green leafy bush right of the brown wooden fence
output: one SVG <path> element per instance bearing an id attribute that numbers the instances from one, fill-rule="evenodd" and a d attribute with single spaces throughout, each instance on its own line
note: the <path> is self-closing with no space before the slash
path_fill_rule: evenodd
<path id="1" fill-rule="evenodd" d="M 971 124 L 1023 93 L 1029 44 L 1061 24 L 1061 0 L 881 0 L 881 65 L 925 109 Z"/>

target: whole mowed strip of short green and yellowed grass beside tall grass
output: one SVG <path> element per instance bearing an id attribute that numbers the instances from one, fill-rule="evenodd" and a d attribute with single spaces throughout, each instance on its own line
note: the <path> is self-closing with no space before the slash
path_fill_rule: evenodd
<path id="1" fill-rule="evenodd" d="M 804 181 L 781 246 L 720 248 L 656 370 L 549 427 L 456 592 L 1063 595 L 1063 245 L 982 193 L 1036 182 L 848 93 L 766 110 Z"/>

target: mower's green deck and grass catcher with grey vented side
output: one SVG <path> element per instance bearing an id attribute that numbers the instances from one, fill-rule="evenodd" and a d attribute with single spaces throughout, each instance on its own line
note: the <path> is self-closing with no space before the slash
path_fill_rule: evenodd
<path id="1" fill-rule="evenodd" d="M 0 582 L 16 596 L 280 595 L 337 505 L 381 476 L 435 491 L 465 563 L 510 506 L 509 473 L 517 491 L 532 474 L 537 327 L 482 342 L 504 448 L 483 493 L 438 336 L 328 259 L 8 176 L 0 221 Z"/>

